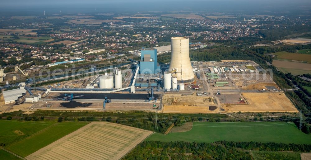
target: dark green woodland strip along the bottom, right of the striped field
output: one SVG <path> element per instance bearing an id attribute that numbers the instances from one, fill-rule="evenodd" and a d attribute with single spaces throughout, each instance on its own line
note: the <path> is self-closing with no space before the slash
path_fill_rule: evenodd
<path id="1" fill-rule="evenodd" d="M 254 159 L 251 151 L 310 152 L 309 144 L 260 142 L 159 142 L 144 141 L 123 159 Z"/>

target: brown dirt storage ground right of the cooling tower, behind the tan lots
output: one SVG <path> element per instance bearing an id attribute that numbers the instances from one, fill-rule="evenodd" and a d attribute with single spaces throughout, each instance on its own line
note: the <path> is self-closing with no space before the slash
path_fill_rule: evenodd
<path id="1" fill-rule="evenodd" d="M 272 77 L 269 74 L 245 73 L 228 75 L 231 81 L 238 87 L 248 86 L 250 84 L 256 85 L 258 83 L 273 83 Z M 263 89 L 263 88 L 261 88 Z"/>

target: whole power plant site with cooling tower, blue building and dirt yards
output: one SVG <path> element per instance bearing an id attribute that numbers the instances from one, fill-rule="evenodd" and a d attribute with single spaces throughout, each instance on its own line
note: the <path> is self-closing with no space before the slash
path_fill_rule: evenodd
<path id="1" fill-rule="evenodd" d="M 157 49 L 160 54 L 162 50 L 156 47 L 141 49 L 139 64 L 131 60 L 119 65 L 125 70 L 92 67 L 84 73 L 90 74 L 89 77 L 81 74 L 80 79 L 36 88 L 29 86 L 34 83 L 31 80 L 27 85 L 19 83 L 20 89 L 13 91 L 20 92 L 17 97 L 11 96 L 11 91 L 3 92 L 7 106 L 1 107 L 2 112 L 17 108 L 163 113 L 297 112 L 273 81 L 271 72 L 254 61 L 191 62 L 188 44 L 186 37 L 171 38 L 169 65 L 157 65 Z M 29 105 L 13 104 L 23 101 Z"/>

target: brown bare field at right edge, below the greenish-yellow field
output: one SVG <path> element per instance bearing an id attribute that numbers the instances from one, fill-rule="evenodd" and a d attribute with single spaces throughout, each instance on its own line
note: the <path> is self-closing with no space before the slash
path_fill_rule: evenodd
<path id="1" fill-rule="evenodd" d="M 272 64 L 283 73 L 290 72 L 294 75 L 297 75 L 311 72 L 311 64 L 307 63 L 273 60 Z"/>

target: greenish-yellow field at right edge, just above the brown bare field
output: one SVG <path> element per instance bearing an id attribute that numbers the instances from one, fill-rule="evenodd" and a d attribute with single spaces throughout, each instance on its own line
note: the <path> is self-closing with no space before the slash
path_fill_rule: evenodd
<path id="1" fill-rule="evenodd" d="M 289 53 L 289 52 L 276 52 L 272 54 L 276 55 L 277 59 L 287 59 L 287 60 L 311 63 L 311 54 L 298 54 L 298 53 Z"/>

